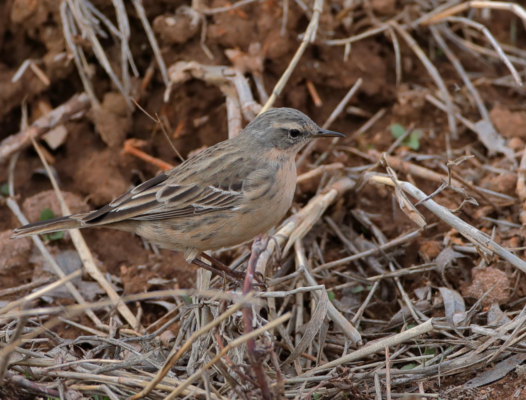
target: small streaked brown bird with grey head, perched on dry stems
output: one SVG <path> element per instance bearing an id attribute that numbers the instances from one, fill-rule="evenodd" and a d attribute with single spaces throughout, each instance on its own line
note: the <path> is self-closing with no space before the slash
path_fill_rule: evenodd
<path id="1" fill-rule="evenodd" d="M 135 232 L 156 246 L 239 283 L 239 273 L 203 254 L 265 233 L 287 213 L 296 188 L 295 156 L 310 140 L 345 136 L 321 129 L 304 113 L 276 108 L 235 138 L 198 153 L 99 210 L 14 229 L 13 238 L 107 227 Z"/>

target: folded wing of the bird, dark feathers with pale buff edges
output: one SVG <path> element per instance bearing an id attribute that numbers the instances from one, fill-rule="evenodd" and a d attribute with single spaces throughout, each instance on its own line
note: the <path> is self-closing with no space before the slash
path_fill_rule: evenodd
<path id="1" fill-rule="evenodd" d="M 250 176 L 256 172 L 245 169 L 234 177 L 215 174 L 207 181 L 196 176 L 177 179 L 177 175 L 163 173 L 90 213 L 81 222 L 100 225 L 126 219 L 165 219 L 232 209 L 244 195 L 244 185 L 249 185 Z"/>

